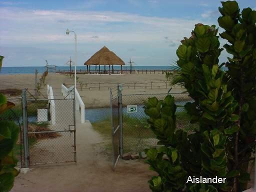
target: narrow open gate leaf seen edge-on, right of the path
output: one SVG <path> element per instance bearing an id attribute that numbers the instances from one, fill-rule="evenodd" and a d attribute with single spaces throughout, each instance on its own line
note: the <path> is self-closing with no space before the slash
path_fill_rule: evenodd
<path id="1" fill-rule="evenodd" d="M 122 155 L 122 104 L 121 86 L 117 89 L 110 88 L 110 114 L 112 125 L 112 167 L 116 167 L 118 159 Z"/>

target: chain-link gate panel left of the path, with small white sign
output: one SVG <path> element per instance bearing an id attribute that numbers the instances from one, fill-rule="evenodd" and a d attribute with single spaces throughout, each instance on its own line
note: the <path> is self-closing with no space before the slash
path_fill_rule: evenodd
<path id="1" fill-rule="evenodd" d="M 22 93 L 25 167 L 76 162 L 75 100 L 36 99 Z"/>

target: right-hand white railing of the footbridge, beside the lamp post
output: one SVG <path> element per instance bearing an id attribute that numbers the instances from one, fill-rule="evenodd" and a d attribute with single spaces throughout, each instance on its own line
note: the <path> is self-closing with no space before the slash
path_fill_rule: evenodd
<path id="1" fill-rule="evenodd" d="M 68 99 L 73 98 L 72 92 L 70 92 L 73 89 L 73 86 L 66 88 L 65 85 L 61 84 L 61 93 L 63 96 L 66 96 L 68 94 Z M 80 97 L 79 92 L 77 89 L 75 89 L 75 109 L 79 110 L 80 116 L 81 116 L 81 123 L 84 123 L 84 103 Z"/>

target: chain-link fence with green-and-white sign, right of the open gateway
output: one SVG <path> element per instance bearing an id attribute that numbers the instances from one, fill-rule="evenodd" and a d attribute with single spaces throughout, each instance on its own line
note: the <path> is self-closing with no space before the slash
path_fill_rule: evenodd
<path id="1" fill-rule="evenodd" d="M 158 100 L 164 99 L 167 93 L 157 94 L 122 94 L 122 138 L 123 153 L 141 152 L 145 148 L 155 146 L 157 139 L 150 130 L 147 123 L 148 116 L 144 113 L 143 101 L 149 97 L 156 97 Z M 192 101 L 187 93 L 171 93 L 175 97 L 176 126 L 178 129 L 194 130 L 197 125 L 189 123 L 189 117 L 183 105 L 187 101 Z M 136 112 L 128 112 L 127 105 L 137 105 Z"/>

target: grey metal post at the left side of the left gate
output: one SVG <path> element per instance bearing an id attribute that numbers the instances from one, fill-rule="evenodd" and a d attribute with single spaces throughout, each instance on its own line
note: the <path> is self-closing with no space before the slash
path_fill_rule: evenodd
<path id="1" fill-rule="evenodd" d="M 28 168 L 28 138 L 27 138 L 27 106 L 26 106 L 26 90 L 22 90 L 22 121 L 23 121 L 23 144 L 24 144 L 24 163 L 25 168 Z M 22 133 L 21 133 L 22 134 Z"/>

